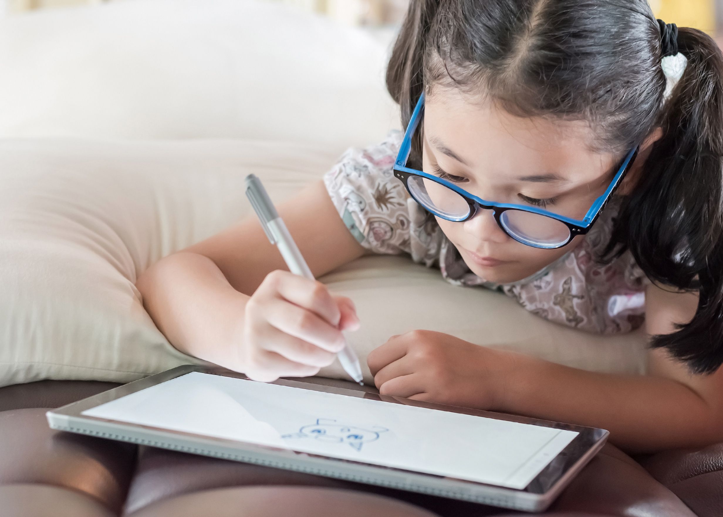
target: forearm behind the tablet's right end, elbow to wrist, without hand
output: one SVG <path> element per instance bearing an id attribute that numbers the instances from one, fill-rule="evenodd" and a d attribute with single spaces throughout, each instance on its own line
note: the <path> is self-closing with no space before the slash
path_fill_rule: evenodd
<path id="1" fill-rule="evenodd" d="M 519 356 L 500 411 L 601 427 L 630 452 L 696 447 L 722 440 L 720 417 L 681 382 L 599 374 Z"/>

